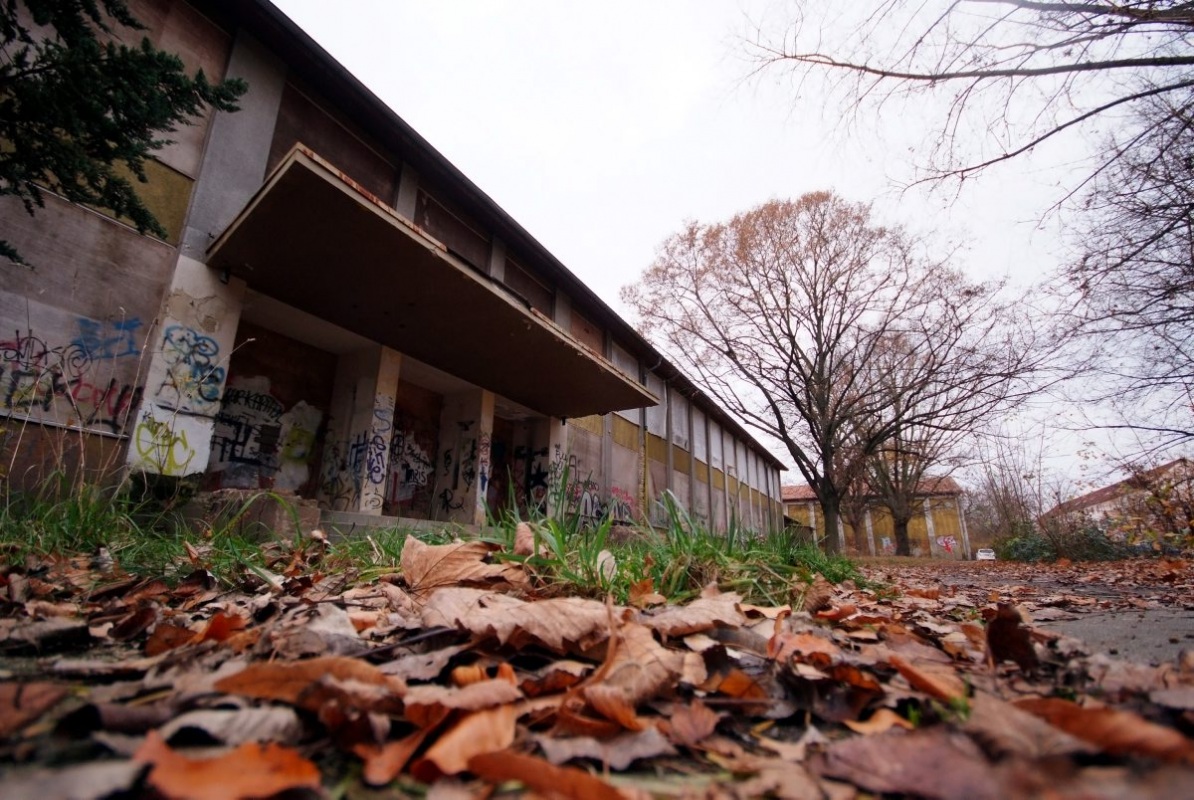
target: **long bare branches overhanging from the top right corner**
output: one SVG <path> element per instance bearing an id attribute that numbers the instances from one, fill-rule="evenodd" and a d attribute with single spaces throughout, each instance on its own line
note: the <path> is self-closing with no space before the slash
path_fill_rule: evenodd
<path id="1" fill-rule="evenodd" d="M 1127 110 L 1194 92 L 1194 2 L 1182 0 L 882 0 L 799 4 L 764 64 L 827 76 L 856 110 L 942 97 L 928 178 L 966 178 Z M 973 148 L 973 149 L 972 149 Z M 1098 152 L 1085 178 L 1119 153 Z M 1070 186 L 1071 191 L 1078 186 Z"/>

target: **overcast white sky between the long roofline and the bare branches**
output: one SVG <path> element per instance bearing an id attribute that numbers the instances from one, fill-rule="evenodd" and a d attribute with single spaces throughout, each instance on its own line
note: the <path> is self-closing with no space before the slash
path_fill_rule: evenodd
<path id="1" fill-rule="evenodd" d="M 1030 282 L 1060 257 L 1036 227 L 1055 190 L 1033 165 L 959 198 L 901 195 L 921 119 L 843 137 L 782 73 L 749 79 L 743 37 L 753 23 L 774 30 L 790 4 L 275 2 L 623 314 L 618 289 L 683 221 L 820 189 L 964 240 L 960 266 L 975 277 Z"/>

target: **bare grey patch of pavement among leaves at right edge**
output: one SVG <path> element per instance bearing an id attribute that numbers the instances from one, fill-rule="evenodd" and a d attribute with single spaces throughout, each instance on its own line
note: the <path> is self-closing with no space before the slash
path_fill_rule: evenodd
<path id="1" fill-rule="evenodd" d="M 1034 621 L 1033 627 L 1082 640 L 1091 653 L 1161 664 L 1194 648 L 1194 609 L 1156 608 L 1089 613 L 1073 620 Z"/>

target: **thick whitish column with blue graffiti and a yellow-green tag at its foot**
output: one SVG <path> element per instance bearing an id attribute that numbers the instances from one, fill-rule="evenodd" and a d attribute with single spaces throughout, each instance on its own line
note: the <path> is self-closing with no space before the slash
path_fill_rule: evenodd
<path id="1" fill-rule="evenodd" d="M 146 392 L 127 455 L 133 469 L 174 476 L 207 469 L 244 296 L 244 281 L 226 283 L 179 256 L 147 347 Z"/>

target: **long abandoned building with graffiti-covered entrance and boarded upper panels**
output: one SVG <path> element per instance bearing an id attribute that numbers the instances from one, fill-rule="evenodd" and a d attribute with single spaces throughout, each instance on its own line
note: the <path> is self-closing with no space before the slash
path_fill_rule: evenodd
<path id="1" fill-rule="evenodd" d="M 129 5 L 248 92 L 148 165 L 166 240 L 0 198 L 36 267 L 0 282 L 14 486 L 133 469 L 464 524 L 552 498 L 658 522 L 670 491 L 781 524 L 783 464 L 281 11 Z"/>

